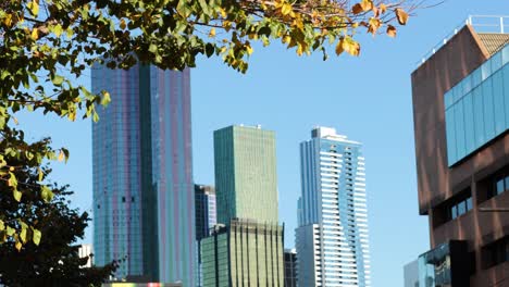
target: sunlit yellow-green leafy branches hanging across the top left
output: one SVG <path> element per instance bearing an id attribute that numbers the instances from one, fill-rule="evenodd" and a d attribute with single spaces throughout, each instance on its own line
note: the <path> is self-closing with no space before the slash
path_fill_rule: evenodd
<path id="1" fill-rule="evenodd" d="M 95 64 L 129 68 L 136 63 L 183 70 L 198 55 L 221 57 L 239 72 L 248 68 L 253 42 L 281 41 L 298 55 L 347 52 L 359 55 L 356 33 L 396 36 L 413 7 L 407 0 L 3 0 L 0 1 L 0 179 L 1 197 L 22 202 L 30 194 L 50 201 L 52 190 L 39 173 L 34 186 L 22 186 L 18 166 L 66 160 L 69 151 L 29 145 L 14 129 L 15 113 L 39 110 L 75 121 L 98 121 L 96 105 L 110 93 L 92 93 L 75 84 Z M 405 7 L 404 7 L 405 4 Z M 114 97 L 114 95 L 113 95 Z M 83 112 L 80 112 L 83 111 Z M 0 219 L 5 217 L 0 211 Z M 0 242 L 15 247 L 45 236 L 20 214 L 0 222 Z M 34 236 L 35 235 L 35 236 Z M 9 239 L 11 238 L 11 239 Z M 25 238 L 25 239 L 24 239 Z M 36 244 L 39 239 L 33 240 Z"/>

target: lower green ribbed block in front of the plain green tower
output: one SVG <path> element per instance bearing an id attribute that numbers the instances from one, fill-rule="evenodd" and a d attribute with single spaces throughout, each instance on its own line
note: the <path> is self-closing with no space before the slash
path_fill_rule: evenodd
<path id="1" fill-rule="evenodd" d="M 204 287 L 285 286 L 284 227 L 232 220 L 201 240 Z"/>

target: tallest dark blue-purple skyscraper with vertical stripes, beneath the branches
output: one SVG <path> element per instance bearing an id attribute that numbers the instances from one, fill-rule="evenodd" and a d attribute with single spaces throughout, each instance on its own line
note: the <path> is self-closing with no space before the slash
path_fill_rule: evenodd
<path id="1" fill-rule="evenodd" d="M 189 71 L 98 66 L 91 86 L 112 98 L 92 125 L 96 263 L 194 286 Z"/>

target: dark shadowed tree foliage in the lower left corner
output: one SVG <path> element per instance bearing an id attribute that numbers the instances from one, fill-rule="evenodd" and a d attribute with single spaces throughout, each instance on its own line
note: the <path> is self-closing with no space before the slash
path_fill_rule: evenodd
<path id="1" fill-rule="evenodd" d="M 47 147 L 48 144 L 45 139 L 33 145 Z M 88 258 L 78 257 L 76 240 L 84 236 L 90 221 L 88 214 L 69 208 L 67 197 L 72 192 L 66 186 L 39 188 L 39 177 L 48 176 L 48 167 L 39 170 L 38 165 L 23 161 L 12 162 L 18 166 L 15 172 L 20 189 L 29 188 L 30 192 L 23 192 L 20 201 L 11 196 L 0 197 L 4 219 L 1 236 L 13 235 L 0 245 L 0 283 L 14 287 L 100 286 L 116 270 L 117 262 L 85 267 Z M 0 190 L 5 190 L 8 185 L 0 182 Z M 13 233 L 14 229 L 21 233 Z"/>

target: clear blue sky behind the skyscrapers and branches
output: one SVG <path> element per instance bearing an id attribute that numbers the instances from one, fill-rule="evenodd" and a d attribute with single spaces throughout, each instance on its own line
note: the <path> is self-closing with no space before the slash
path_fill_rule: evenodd
<path id="1" fill-rule="evenodd" d="M 508 1 L 446 0 L 418 11 L 396 39 L 361 36 L 360 58 L 331 54 L 323 62 L 320 54 L 298 58 L 277 43 L 256 46 L 246 75 L 218 59 L 200 59 L 191 72 L 195 180 L 213 184 L 213 130 L 231 124 L 275 130 L 280 219 L 291 247 L 300 195 L 298 144 L 313 126 L 335 127 L 363 144 L 373 286 L 402 286 L 404 264 L 429 249 L 427 219 L 418 213 L 410 74 L 468 15 L 501 11 L 509 12 Z M 87 77 L 82 80 L 89 84 Z M 55 147 L 71 150 L 66 165 L 53 164 L 53 177 L 76 190 L 75 207 L 89 210 L 90 122 L 37 115 L 20 120 L 28 137 L 51 135 Z M 91 240 L 89 228 L 85 241 Z"/>

